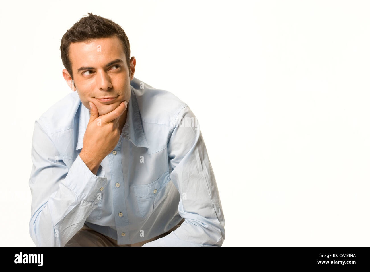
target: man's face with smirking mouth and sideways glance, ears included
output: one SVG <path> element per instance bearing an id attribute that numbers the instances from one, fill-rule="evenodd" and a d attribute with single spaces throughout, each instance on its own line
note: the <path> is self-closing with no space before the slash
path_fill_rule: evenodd
<path id="1" fill-rule="evenodd" d="M 75 88 L 82 104 L 90 110 L 89 102 L 98 108 L 99 115 L 117 108 L 122 101 L 130 100 L 130 80 L 134 78 L 136 60 L 132 57 L 127 67 L 121 40 L 117 37 L 98 38 L 90 43 L 71 43 L 69 58 Z M 118 60 L 118 61 L 117 61 Z M 63 70 L 65 80 L 71 80 Z M 101 98 L 113 97 L 109 101 Z"/>

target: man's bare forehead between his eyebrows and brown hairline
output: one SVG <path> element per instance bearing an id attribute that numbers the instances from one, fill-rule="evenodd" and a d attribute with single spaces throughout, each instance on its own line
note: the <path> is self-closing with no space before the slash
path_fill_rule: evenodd
<path id="1" fill-rule="evenodd" d="M 69 58 L 72 70 L 80 66 L 105 66 L 108 62 L 121 58 L 125 60 L 122 42 L 116 36 L 96 38 L 90 41 L 71 43 Z"/>

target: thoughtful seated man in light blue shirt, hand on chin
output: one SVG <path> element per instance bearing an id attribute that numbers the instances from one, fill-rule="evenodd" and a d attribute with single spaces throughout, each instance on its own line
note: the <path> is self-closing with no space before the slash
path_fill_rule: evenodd
<path id="1" fill-rule="evenodd" d="M 134 77 L 128 38 L 111 20 L 89 13 L 60 49 L 73 93 L 35 121 L 34 243 L 221 246 L 221 201 L 188 105 Z"/>

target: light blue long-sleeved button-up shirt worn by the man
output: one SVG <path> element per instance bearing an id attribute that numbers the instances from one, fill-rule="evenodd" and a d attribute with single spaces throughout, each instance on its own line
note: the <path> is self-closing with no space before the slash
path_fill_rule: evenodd
<path id="1" fill-rule="evenodd" d="M 225 219 L 199 123 L 174 94 L 134 78 L 127 120 L 94 175 L 80 158 L 89 110 L 77 92 L 35 121 L 29 231 L 36 246 L 64 246 L 84 223 L 144 246 L 221 246 Z"/>

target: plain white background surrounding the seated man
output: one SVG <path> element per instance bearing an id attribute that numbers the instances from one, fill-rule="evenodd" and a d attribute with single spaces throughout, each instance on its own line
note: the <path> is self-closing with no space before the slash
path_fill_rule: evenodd
<path id="1" fill-rule="evenodd" d="M 369 246 L 368 1 L 6 1 L 2 246 L 34 246 L 34 121 L 71 92 L 60 40 L 88 12 L 124 29 L 135 77 L 199 120 L 223 246 Z"/>

